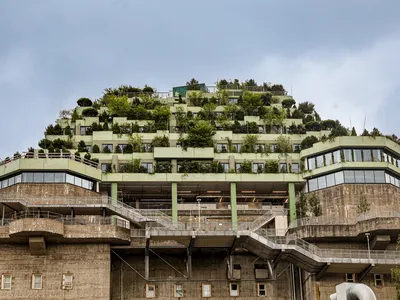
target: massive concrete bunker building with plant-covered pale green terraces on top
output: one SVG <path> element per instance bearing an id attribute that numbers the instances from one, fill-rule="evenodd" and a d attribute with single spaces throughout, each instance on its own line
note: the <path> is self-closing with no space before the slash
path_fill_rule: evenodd
<path id="1" fill-rule="evenodd" d="M 395 299 L 396 141 L 279 86 L 184 93 L 80 99 L 0 163 L 0 299 Z"/>

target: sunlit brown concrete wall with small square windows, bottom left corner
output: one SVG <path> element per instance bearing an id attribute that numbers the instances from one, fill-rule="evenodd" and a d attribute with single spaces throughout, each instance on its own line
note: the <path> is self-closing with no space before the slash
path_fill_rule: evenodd
<path id="1" fill-rule="evenodd" d="M 0 299 L 110 299 L 105 244 L 48 245 L 46 256 L 31 256 L 28 245 L 0 245 L 0 273 L 12 275 L 11 290 L 0 290 Z M 34 273 L 43 276 L 41 290 L 31 288 Z M 74 276 L 72 290 L 62 289 L 64 273 Z"/>

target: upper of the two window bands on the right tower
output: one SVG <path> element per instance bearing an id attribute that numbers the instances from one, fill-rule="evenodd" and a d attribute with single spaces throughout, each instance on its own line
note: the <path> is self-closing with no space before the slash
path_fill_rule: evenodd
<path id="1" fill-rule="evenodd" d="M 341 149 L 307 159 L 308 170 L 340 162 L 388 162 L 400 167 L 400 158 L 382 149 Z"/>

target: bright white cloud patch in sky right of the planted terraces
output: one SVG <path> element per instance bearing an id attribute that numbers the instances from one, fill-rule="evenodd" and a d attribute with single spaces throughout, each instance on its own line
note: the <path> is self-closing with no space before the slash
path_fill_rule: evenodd
<path id="1" fill-rule="evenodd" d="M 346 127 L 351 120 L 351 125 L 361 131 L 366 117 L 367 129 L 377 127 L 395 133 L 399 101 L 394 95 L 400 89 L 398 53 L 400 38 L 387 37 L 364 50 L 310 51 L 295 57 L 268 55 L 249 74 L 259 81 L 271 79 L 284 84 L 297 102 L 315 103 L 324 119 L 339 119 Z"/>

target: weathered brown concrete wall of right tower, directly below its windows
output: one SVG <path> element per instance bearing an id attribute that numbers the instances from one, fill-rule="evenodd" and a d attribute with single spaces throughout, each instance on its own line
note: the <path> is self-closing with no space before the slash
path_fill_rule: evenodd
<path id="1" fill-rule="evenodd" d="M 400 211 L 400 189 L 391 184 L 341 184 L 312 194 L 318 196 L 323 216 L 338 219 L 356 217 L 362 195 L 371 204 L 370 211 Z"/>

